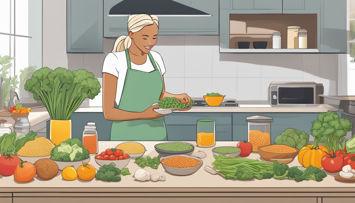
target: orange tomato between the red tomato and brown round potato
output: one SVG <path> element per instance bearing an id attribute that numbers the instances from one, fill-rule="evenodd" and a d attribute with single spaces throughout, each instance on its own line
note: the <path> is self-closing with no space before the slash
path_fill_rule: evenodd
<path id="1" fill-rule="evenodd" d="M 13 177 L 17 182 L 29 182 L 36 176 L 36 167 L 27 161 L 22 161 L 18 164 Z"/>

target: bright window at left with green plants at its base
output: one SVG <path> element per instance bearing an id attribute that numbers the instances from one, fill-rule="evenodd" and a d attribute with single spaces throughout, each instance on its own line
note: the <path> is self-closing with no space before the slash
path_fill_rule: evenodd
<path id="1" fill-rule="evenodd" d="M 21 103 L 34 102 L 24 83 L 42 68 L 42 0 L 0 0 L 0 8 L 0 106 L 8 106 L 13 92 Z"/>

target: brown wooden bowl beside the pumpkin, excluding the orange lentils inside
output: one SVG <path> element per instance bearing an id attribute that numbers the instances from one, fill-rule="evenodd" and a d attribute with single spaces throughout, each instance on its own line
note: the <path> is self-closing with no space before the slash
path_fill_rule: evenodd
<path id="1" fill-rule="evenodd" d="M 269 145 L 264 145 L 264 146 L 269 146 Z M 267 152 L 267 151 L 261 150 L 261 148 L 263 148 L 264 146 L 258 147 L 259 155 L 267 161 L 273 162 L 273 161 L 277 160 L 281 164 L 288 164 L 297 156 L 297 154 L 299 152 L 299 150 L 297 148 L 294 148 L 297 151 L 295 151 L 293 153 L 286 153 L 286 154 L 272 153 L 272 152 Z"/>

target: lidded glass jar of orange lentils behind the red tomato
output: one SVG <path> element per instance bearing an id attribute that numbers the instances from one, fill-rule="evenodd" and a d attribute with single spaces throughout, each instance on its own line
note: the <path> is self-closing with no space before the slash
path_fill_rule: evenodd
<path id="1" fill-rule="evenodd" d="M 260 146 L 271 144 L 271 123 L 273 118 L 266 116 L 251 116 L 246 118 L 248 123 L 248 141 L 257 152 Z"/>

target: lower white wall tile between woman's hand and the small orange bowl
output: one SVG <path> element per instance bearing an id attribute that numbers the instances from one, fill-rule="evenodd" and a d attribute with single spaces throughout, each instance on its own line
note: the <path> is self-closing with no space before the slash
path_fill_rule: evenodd
<path id="1" fill-rule="evenodd" d="M 185 78 L 185 93 L 190 97 L 202 97 L 212 92 L 212 78 Z"/>

